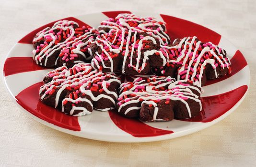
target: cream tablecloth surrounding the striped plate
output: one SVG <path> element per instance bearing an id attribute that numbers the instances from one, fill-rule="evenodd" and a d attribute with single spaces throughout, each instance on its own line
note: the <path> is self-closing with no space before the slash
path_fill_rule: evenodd
<path id="1" fill-rule="evenodd" d="M 192 135 L 150 143 L 109 143 L 70 136 L 25 115 L 0 82 L 0 167 L 256 166 L 256 0 L 0 0 L 0 60 L 25 34 L 48 22 L 91 12 L 139 10 L 202 24 L 244 54 L 251 85 L 220 123 Z M 2 78 L 1 78 L 2 80 Z"/>

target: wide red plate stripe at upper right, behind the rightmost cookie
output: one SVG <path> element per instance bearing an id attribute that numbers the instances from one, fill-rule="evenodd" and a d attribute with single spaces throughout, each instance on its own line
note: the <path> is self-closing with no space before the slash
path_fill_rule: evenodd
<path id="1" fill-rule="evenodd" d="M 191 21 L 186 21 L 172 16 L 160 14 L 165 21 L 168 34 L 171 39 L 184 38 L 188 36 L 197 36 L 202 42 L 212 42 L 219 44 L 221 35 Z"/>

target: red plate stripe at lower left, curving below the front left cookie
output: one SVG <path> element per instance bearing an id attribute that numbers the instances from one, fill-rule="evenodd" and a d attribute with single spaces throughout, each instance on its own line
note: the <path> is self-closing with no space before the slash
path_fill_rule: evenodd
<path id="1" fill-rule="evenodd" d="M 66 115 L 53 107 L 43 104 L 39 100 L 38 89 L 42 85 L 43 82 L 33 84 L 20 92 L 15 97 L 18 104 L 31 114 L 51 124 L 74 131 L 80 131 L 81 128 L 78 123 L 78 117 Z"/>

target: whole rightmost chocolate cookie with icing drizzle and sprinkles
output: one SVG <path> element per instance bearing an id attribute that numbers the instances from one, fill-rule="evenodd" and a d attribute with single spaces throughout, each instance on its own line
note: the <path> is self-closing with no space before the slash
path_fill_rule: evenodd
<path id="1" fill-rule="evenodd" d="M 177 80 L 191 80 L 204 85 L 207 79 L 231 73 L 226 51 L 211 42 L 201 42 L 197 37 L 176 39 L 165 46 L 168 60 L 164 67 L 154 68 L 157 75 L 172 76 Z"/>

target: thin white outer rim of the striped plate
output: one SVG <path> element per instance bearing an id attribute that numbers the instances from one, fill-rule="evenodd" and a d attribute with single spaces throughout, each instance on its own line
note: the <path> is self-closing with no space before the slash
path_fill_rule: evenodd
<path id="1" fill-rule="evenodd" d="M 120 11 L 120 10 L 112 10 L 112 11 Z M 105 11 L 100 11 L 100 12 L 92 12 L 92 13 L 87 13 L 87 14 L 81 14 L 81 15 L 76 15 L 76 16 L 70 16 L 70 17 L 78 17 L 78 16 L 86 16 L 86 15 L 90 15 L 90 14 L 97 14 L 97 13 L 101 13 L 101 12 L 105 12 Z M 134 11 L 132 11 L 134 12 Z M 135 12 L 136 13 L 136 12 Z M 150 13 L 150 12 L 139 12 L 139 13 Z M 160 13 L 155 13 L 155 12 L 152 12 L 151 14 L 160 14 Z M 171 15 L 168 15 L 168 14 L 165 14 L 167 16 L 171 16 Z M 172 16 L 172 17 L 175 17 L 175 16 Z M 178 18 L 178 17 L 176 17 Z M 182 18 L 178 18 L 178 19 L 182 19 Z M 183 20 L 186 20 L 186 19 L 183 19 Z M 188 21 L 188 20 L 186 20 Z M 192 22 L 192 21 L 190 21 Z M 195 22 L 193 22 L 195 23 Z M 197 23 L 195 23 L 197 24 Z M 198 24 L 200 25 L 200 24 Z M 203 26 L 203 25 L 200 25 L 200 26 Z M 205 27 L 205 26 L 203 26 Z M 207 27 L 205 27 L 207 28 Z M 209 29 L 209 28 L 207 28 Z M 209 29 L 211 30 L 211 29 Z M 212 30 L 213 31 L 213 30 Z M 216 32 L 216 31 L 214 31 Z M 30 33 L 30 32 L 29 32 Z M 216 32 L 218 33 L 218 32 Z M 227 40 L 228 42 L 230 42 L 227 38 L 223 37 L 221 35 L 221 38 L 224 38 L 225 40 Z M 100 135 L 101 133 L 95 133 L 95 132 L 90 132 L 89 134 L 86 132 L 86 131 L 74 131 L 74 130 L 70 130 L 70 129 L 67 129 L 67 128 L 63 128 L 63 127 L 60 127 L 58 125 L 54 125 L 50 122 L 47 122 L 39 117 L 37 117 L 36 115 L 28 112 L 26 109 L 24 109 L 16 100 L 15 96 L 12 94 L 12 91 L 10 90 L 10 88 L 8 87 L 8 84 L 6 82 L 6 77 L 4 76 L 4 63 L 6 62 L 7 58 L 9 57 L 10 55 L 10 52 L 12 52 L 13 49 L 15 49 L 15 46 L 18 42 L 15 42 L 15 44 L 12 46 L 12 48 L 10 49 L 10 51 L 7 53 L 7 55 L 5 56 L 5 59 L 3 61 L 3 66 L 2 66 L 2 79 L 3 79 L 3 83 L 4 83 L 4 87 L 5 89 L 7 90 L 7 92 L 9 93 L 9 95 L 11 95 L 12 97 L 12 101 L 15 102 L 15 104 L 23 110 L 23 112 L 26 113 L 26 115 L 29 115 L 30 117 L 34 118 L 37 122 L 40 122 L 41 124 L 43 125 L 47 125 L 48 127 L 50 128 L 53 128 L 55 130 L 58 130 L 58 131 L 61 131 L 63 133 L 67 133 L 67 134 L 70 134 L 70 135 L 73 135 L 73 136 L 79 136 L 79 137 L 83 137 L 83 138 L 87 138 L 87 139 L 93 139 L 93 140 L 98 140 L 98 141 L 106 141 L 106 142 L 123 142 L 123 143 L 133 143 L 133 142 L 152 142 L 152 141 L 161 141 L 161 140 L 167 140 L 167 139 L 172 139 L 172 138 L 176 138 L 176 137 L 181 137 L 181 136 L 186 136 L 186 135 L 189 135 L 189 134 L 192 134 L 192 133 L 195 133 L 195 132 L 198 132 L 200 130 L 203 130 L 203 129 L 206 129 L 208 128 L 209 126 L 212 126 L 214 124 L 217 124 L 218 122 L 222 121 L 224 118 L 226 118 L 228 115 L 230 115 L 231 113 L 234 112 L 234 110 L 236 110 L 238 108 L 238 106 L 244 101 L 244 98 L 245 96 L 247 95 L 248 93 L 248 90 L 250 88 L 250 82 L 251 82 L 251 74 L 250 74 L 250 68 L 249 68 L 249 65 L 247 64 L 247 67 L 248 67 L 248 81 L 246 83 L 247 85 L 247 90 L 246 92 L 244 93 L 244 95 L 241 97 L 241 99 L 233 105 L 233 107 L 231 109 L 229 109 L 226 113 L 224 113 L 223 115 L 221 115 L 220 117 L 212 120 L 211 122 L 208 122 L 207 124 L 202 124 L 200 126 L 197 126 L 197 127 L 193 127 L 192 129 L 187 129 L 187 130 L 182 130 L 182 131 L 177 131 L 175 133 L 172 133 L 172 134 L 165 134 L 165 135 L 160 135 L 160 136 L 150 136 L 150 137 L 136 137 L 136 136 L 132 136 L 130 134 L 127 133 L 127 135 L 129 136 L 126 136 L 124 134 L 108 134 L 108 137 L 103 137 L 105 135 Z M 233 44 L 232 42 L 230 42 L 231 44 Z M 236 49 L 237 47 L 234 46 Z M 237 49 L 238 50 L 238 49 Z M 245 61 L 246 61 L 246 58 L 244 57 Z M 247 61 L 246 61 L 247 62 Z M 245 67 L 244 67 L 245 68 Z M 118 127 L 119 128 L 119 127 Z M 93 137 L 92 137 L 92 134 L 93 134 Z M 98 135 L 98 136 L 97 136 Z M 111 138 L 111 136 L 116 136 L 116 138 Z M 117 139 L 118 137 L 122 137 L 122 139 L 120 140 Z"/>

